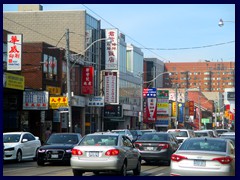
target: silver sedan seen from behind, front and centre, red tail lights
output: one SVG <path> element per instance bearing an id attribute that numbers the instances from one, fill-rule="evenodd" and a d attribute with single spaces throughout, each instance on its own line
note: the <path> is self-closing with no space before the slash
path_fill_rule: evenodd
<path id="1" fill-rule="evenodd" d="M 141 154 L 124 134 L 87 134 L 72 150 L 71 167 L 74 176 L 82 176 L 84 172 L 99 174 L 108 171 L 126 176 L 130 170 L 139 175 Z"/>

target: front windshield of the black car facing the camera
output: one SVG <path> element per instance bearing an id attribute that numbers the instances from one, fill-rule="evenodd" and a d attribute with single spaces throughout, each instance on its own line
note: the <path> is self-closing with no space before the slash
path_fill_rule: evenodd
<path id="1" fill-rule="evenodd" d="M 74 134 L 52 134 L 46 144 L 77 144 L 78 137 Z"/>

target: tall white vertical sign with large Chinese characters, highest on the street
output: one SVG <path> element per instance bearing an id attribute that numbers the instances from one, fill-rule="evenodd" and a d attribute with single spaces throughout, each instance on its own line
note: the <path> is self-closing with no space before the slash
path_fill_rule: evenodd
<path id="1" fill-rule="evenodd" d="M 118 70 L 118 30 L 106 29 L 105 33 L 106 38 L 112 41 L 105 41 L 105 69 Z"/>

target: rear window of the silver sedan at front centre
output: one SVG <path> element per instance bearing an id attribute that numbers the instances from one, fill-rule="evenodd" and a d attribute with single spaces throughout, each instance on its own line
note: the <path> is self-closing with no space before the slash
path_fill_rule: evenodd
<path id="1" fill-rule="evenodd" d="M 117 136 L 113 135 L 91 135 L 85 136 L 79 146 L 116 146 Z"/>

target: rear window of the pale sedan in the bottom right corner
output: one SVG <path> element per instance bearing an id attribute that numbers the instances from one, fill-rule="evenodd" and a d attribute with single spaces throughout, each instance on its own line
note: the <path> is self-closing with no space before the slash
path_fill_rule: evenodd
<path id="1" fill-rule="evenodd" d="M 213 139 L 192 139 L 184 141 L 179 150 L 226 152 L 226 142 Z"/>

